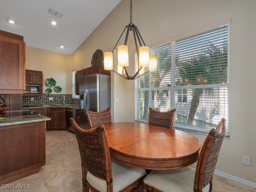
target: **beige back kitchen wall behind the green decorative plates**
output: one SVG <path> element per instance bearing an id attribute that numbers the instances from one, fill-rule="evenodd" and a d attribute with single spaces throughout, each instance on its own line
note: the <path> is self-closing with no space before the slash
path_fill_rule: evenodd
<path id="1" fill-rule="evenodd" d="M 46 80 L 54 78 L 56 86 L 62 87 L 59 94 L 72 94 L 72 62 L 72 55 L 26 46 L 26 69 L 43 72 L 43 92 L 49 88 L 45 85 Z M 52 94 L 58 94 L 52 90 Z"/>

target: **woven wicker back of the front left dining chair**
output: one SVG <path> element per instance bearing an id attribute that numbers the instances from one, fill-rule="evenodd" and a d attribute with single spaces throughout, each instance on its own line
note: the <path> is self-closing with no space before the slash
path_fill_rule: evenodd
<path id="1" fill-rule="evenodd" d="M 105 180 L 108 191 L 112 191 L 112 167 L 104 125 L 83 130 L 73 118 L 70 118 L 70 122 L 74 128 L 81 156 L 83 191 L 90 186 L 86 181 L 87 172 Z"/>

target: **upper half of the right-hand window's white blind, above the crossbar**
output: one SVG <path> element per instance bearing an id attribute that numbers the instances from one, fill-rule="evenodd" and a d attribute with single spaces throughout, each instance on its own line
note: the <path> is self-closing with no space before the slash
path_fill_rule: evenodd
<path id="1" fill-rule="evenodd" d="M 176 41 L 179 86 L 227 83 L 228 26 Z"/>

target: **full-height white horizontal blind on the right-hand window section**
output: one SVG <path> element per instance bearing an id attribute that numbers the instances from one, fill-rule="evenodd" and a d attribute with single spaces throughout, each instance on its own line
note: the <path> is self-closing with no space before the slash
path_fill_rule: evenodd
<path id="1" fill-rule="evenodd" d="M 216 128 L 221 118 L 228 118 L 228 26 L 175 45 L 174 126 Z"/>

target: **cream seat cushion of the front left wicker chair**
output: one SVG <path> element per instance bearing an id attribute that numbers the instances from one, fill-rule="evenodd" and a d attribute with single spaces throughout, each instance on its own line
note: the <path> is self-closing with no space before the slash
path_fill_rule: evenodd
<path id="1" fill-rule="evenodd" d="M 117 160 L 111 158 L 112 165 L 112 177 L 113 177 L 113 192 L 118 192 L 125 188 L 135 180 L 146 174 L 146 171 L 141 168 L 128 166 L 120 163 Z M 101 192 L 107 191 L 106 181 L 99 179 L 92 175 L 90 172 L 86 174 L 87 181 L 97 190 Z"/>

